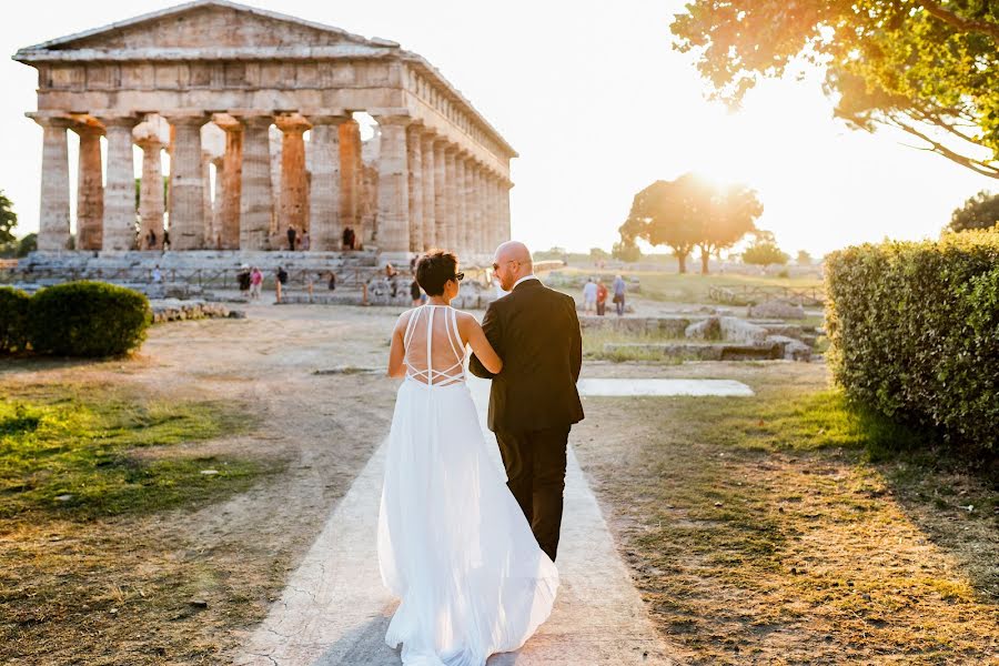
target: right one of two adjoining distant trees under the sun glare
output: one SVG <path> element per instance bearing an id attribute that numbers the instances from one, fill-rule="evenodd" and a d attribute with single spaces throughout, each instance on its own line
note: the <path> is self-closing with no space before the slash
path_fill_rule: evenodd
<path id="1" fill-rule="evenodd" d="M 700 220 L 700 274 L 707 275 L 712 255 L 720 255 L 743 238 L 756 230 L 756 220 L 763 214 L 763 204 L 756 192 L 745 185 L 730 184 L 720 188 L 706 186 L 703 204 L 709 212 Z"/>

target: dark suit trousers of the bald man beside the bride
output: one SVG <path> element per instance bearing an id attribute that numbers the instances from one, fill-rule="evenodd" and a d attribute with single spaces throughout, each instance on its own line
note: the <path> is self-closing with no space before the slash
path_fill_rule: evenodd
<path id="1" fill-rule="evenodd" d="M 566 447 L 569 425 L 536 431 L 498 431 L 496 441 L 506 485 L 531 525 L 534 537 L 552 562 L 558 551 L 565 494 Z"/>

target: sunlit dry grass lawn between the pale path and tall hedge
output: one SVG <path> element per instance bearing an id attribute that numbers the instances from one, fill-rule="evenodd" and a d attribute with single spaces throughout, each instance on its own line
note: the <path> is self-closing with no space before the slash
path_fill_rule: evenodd
<path id="1" fill-rule="evenodd" d="M 664 638 L 694 664 L 996 663 L 995 480 L 807 367 L 718 367 L 757 395 L 589 398 L 573 431 Z"/>

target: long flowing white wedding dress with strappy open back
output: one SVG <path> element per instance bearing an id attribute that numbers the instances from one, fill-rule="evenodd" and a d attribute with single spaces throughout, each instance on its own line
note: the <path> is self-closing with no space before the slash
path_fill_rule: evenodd
<path id="1" fill-rule="evenodd" d="M 385 642 L 403 664 L 483 666 L 548 617 L 558 572 L 488 458 L 451 306 L 405 332 L 379 516 L 379 564 L 401 599 Z"/>

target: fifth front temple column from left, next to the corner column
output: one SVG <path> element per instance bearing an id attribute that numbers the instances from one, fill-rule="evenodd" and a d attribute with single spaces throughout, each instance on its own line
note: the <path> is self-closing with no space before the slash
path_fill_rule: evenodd
<path id="1" fill-rule="evenodd" d="M 309 142 L 312 160 L 309 199 L 311 249 L 333 252 L 340 250 L 343 234 L 340 208 L 340 127 L 347 118 L 310 115 L 309 120 L 312 122 L 312 138 Z"/>

